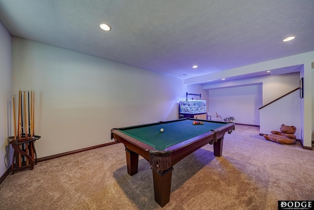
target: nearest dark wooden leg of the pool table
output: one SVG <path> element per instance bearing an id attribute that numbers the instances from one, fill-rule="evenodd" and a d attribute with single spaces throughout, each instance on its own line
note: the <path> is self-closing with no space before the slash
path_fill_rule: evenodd
<path id="1" fill-rule="evenodd" d="M 158 173 L 153 170 L 155 201 L 160 207 L 164 207 L 170 201 L 171 177 L 173 168 Z"/>

